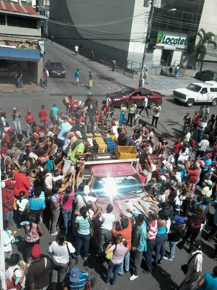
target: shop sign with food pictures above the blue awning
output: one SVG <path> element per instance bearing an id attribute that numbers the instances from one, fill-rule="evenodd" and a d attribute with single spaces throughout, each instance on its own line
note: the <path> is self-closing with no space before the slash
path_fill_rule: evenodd
<path id="1" fill-rule="evenodd" d="M 0 37 L 0 47 L 40 50 L 38 40 Z"/>

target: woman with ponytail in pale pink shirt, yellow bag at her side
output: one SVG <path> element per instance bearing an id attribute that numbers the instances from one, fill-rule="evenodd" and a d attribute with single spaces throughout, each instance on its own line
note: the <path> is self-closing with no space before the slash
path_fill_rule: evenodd
<path id="1" fill-rule="evenodd" d="M 109 260 L 108 263 L 108 272 L 106 276 L 106 285 L 109 284 L 109 280 L 112 275 L 112 271 L 114 272 L 114 276 L 112 279 L 112 286 L 115 286 L 115 282 L 118 278 L 118 271 L 121 267 L 122 260 L 124 259 L 124 255 L 126 254 L 128 250 L 128 245 L 126 240 L 124 239 L 124 236 L 122 234 L 118 234 L 116 237 L 116 244 L 111 245 L 109 244 L 105 250 L 105 254 L 108 254 L 110 252 L 113 252 L 112 259 Z"/>

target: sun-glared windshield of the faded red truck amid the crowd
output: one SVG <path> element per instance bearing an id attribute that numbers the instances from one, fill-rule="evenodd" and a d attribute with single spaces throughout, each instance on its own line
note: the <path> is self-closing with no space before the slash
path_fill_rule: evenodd
<path id="1" fill-rule="evenodd" d="M 95 177 L 93 189 L 99 197 L 124 196 L 144 192 L 143 184 L 137 174 L 117 177 Z"/>

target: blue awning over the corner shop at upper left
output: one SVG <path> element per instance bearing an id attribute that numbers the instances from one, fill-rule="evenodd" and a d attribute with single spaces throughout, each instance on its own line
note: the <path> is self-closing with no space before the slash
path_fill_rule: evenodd
<path id="1" fill-rule="evenodd" d="M 0 59 L 39 61 L 41 57 L 39 50 L 0 47 Z"/>

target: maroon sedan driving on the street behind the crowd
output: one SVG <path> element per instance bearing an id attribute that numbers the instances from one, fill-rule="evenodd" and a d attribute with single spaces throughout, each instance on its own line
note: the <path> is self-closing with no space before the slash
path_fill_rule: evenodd
<path id="1" fill-rule="evenodd" d="M 127 88 L 119 92 L 110 94 L 112 98 L 112 105 L 114 107 L 121 108 L 121 105 L 125 103 L 128 107 L 134 101 L 137 101 L 137 107 L 142 107 L 144 98 L 148 98 L 148 107 L 153 109 L 157 103 L 162 104 L 162 94 L 159 92 L 153 92 L 144 88 Z"/>

